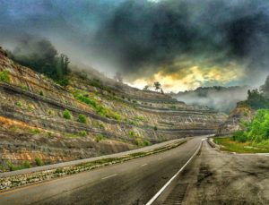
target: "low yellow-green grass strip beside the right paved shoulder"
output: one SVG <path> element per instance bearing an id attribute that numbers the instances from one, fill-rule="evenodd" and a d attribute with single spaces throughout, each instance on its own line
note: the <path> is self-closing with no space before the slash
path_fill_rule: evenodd
<path id="1" fill-rule="evenodd" d="M 233 141 L 232 137 L 213 138 L 214 143 L 221 146 L 221 150 L 238 153 L 269 153 L 269 141 L 259 143 Z"/>

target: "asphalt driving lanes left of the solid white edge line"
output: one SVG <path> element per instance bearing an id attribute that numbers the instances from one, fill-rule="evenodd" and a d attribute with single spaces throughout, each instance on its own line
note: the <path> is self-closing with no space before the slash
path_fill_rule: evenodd
<path id="1" fill-rule="evenodd" d="M 201 139 L 145 158 L 3 192 L 0 204 L 145 204 L 194 155 Z"/>

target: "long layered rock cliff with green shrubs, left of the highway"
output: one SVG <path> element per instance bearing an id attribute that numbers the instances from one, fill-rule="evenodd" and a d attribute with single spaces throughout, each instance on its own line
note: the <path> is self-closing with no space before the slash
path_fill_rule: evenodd
<path id="1" fill-rule="evenodd" d="M 55 163 L 215 133 L 226 119 L 206 107 L 187 106 L 94 73 L 70 73 L 69 81 L 63 88 L 0 51 L 3 167 L 9 160 Z"/>

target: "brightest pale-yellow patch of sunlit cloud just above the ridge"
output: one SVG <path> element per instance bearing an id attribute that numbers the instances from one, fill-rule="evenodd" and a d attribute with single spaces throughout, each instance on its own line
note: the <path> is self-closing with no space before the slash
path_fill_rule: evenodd
<path id="1" fill-rule="evenodd" d="M 243 76 L 239 69 L 230 70 L 218 69 L 213 67 L 207 70 L 201 69 L 198 66 L 191 67 L 187 70 L 187 73 L 164 73 L 162 71 L 154 73 L 152 77 L 138 78 L 132 83 L 139 89 L 143 89 L 144 86 L 149 85 L 151 90 L 154 81 L 160 81 L 162 88 L 167 92 L 178 92 L 185 90 L 195 90 L 198 87 L 204 85 L 227 85 L 232 82 L 239 81 Z"/>

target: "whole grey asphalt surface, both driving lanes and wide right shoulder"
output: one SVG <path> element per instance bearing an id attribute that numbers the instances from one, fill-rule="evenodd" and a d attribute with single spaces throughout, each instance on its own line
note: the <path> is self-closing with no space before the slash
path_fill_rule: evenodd
<path id="1" fill-rule="evenodd" d="M 269 204 L 269 157 L 215 151 L 202 137 L 176 149 L 0 193 L 0 204 Z"/>

